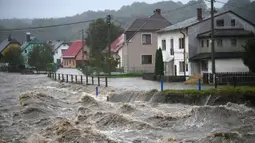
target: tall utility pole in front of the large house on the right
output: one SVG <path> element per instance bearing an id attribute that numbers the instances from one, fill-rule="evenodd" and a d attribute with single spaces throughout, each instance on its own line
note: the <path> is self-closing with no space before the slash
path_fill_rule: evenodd
<path id="1" fill-rule="evenodd" d="M 214 49 L 214 0 L 211 0 L 211 60 L 212 60 L 212 74 L 215 76 L 215 49 Z"/>

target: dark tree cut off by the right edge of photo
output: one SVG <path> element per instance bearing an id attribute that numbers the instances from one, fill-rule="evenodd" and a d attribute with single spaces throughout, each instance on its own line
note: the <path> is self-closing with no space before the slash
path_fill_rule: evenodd
<path id="1" fill-rule="evenodd" d="M 246 42 L 243 46 L 243 63 L 250 69 L 251 72 L 255 73 L 255 38 L 252 38 Z"/>

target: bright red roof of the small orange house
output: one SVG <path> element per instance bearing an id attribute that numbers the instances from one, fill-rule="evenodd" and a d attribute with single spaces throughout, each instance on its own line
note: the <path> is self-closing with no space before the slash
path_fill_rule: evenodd
<path id="1" fill-rule="evenodd" d="M 63 53 L 63 58 L 76 57 L 82 48 L 82 40 L 72 42 L 69 48 Z"/>

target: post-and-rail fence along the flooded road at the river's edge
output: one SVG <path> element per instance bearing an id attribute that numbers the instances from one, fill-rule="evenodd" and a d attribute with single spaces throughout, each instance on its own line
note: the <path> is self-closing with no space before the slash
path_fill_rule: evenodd
<path id="1" fill-rule="evenodd" d="M 48 77 L 61 82 L 77 83 L 85 85 L 102 85 L 108 87 L 108 79 L 106 76 L 84 76 L 84 75 L 72 75 L 72 74 L 60 74 L 60 73 L 48 73 Z"/>

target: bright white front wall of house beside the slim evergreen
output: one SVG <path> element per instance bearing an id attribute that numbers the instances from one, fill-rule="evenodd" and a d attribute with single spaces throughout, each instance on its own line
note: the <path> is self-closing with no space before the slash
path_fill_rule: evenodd
<path id="1" fill-rule="evenodd" d="M 186 34 L 186 30 L 182 30 L 185 33 L 185 50 L 186 50 L 186 64 L 188 64 L 188 72 L 186 75 L 190 75 L 190 64 L 189 64 L 189 57 L 188 57 L 188 37 Z M 179 38 L 183 38 L 183 34 L 180 30 L 164 32 L 158 34 L 158 48 L 162 49 L 162 40 L 166 40 L 166 50 L 162 51 L 163 61 L 169 62 L 169 60 L 174 60 L 174 65 L 177 66 L 177 75 L 184 75 L 184 72 L 180 72 L 180 61 L 184 61 L 184 49 L 179 49 Z M 170 55 L 170 48 L 171 48 L 171 39 L 174 39 L 174 55 Z M 174 68 L 173 65 L 173 68 Z M 167 74 L 167 73 L 166 73 Z"/>

